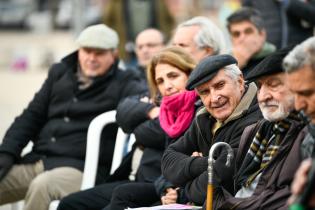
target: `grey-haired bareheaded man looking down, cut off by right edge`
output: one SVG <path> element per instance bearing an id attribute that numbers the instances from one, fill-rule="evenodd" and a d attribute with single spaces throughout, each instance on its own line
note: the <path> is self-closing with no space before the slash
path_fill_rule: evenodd
<path id="1" fill-rule="evenodd" d="M 302 142 L 301 152 L 304 158 L 315 157 L 315 37 L 309 38 L 296 46 L 284 59 L 283 65 L 287 72 L 290 90 L 295 96 L 295 109 L 303 110 L 309 117 L 308 135 Z M 314 164 L 314 160 L 313 160 Z M 306 160 L 296 172 L 292 184 L 290 202 L 303 191 L 311 160 Z M 306 204 L 307 205 L 307 204 Z M 315 191 L 309 202 L 309 207 L 315 207 Z"/>

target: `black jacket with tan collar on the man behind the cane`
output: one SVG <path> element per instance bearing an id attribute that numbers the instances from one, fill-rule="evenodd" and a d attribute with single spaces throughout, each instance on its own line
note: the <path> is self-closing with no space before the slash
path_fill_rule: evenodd
<path id="1" fill-rule="evenodd" d="M 236 154 L 244 128 L 261 118 L 256 100 L 255 85 L 250 85 L 242 101 L 245 102 L 244 106 L 237 107 L 232 114 L 234 117 L 220 127 L 214 136 L 211 128 L 215 119 L 209 115 L 205 108 L 200 110 L 185 135 L 171 144 L 164 152 L 162 157 L 163 175 L 173 184 L 185 187 L 186 196 L 197 205 L 202 205 L 206 198 L 207 156 L 211 146 L 216 142 L 226 142 L 231 145 L 234 154 Z M 191 157 L 195 151 L 201 152 L 203 157 Z M 234 166 L 232 164 L 231 167 L 227 168 L 225 166 L 226 151 L 217 151 L 215 154 L 214 184 L 223 185 L 225 189 L 233 192 Z"/>

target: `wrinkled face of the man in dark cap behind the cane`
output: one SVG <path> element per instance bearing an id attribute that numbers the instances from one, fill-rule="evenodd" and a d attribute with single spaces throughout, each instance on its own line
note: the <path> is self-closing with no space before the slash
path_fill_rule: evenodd
<path id="1" fill-rule="evenodd" d="M 220 122 L 225 121 L 241 101 L 244 89 L 244 79 L 239 76 L 231 78 L 221 69 L 208 82 L 196 88 L 207 111 Z"/>

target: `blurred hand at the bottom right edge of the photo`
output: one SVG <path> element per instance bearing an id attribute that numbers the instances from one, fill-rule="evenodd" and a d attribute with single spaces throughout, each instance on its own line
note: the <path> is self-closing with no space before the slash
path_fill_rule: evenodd
<path id="1" fill-rule="evenodd" d="M 311 168 L 312 160 L 308 159 L 301 163 L 299 169 L 296 171 L 294 180 L 291 185 L 291 192 L 292 195 L 289 198 L 288 203 L 292 204 L 298 195 L 300 195 L 306 185 L 307 178 L 308 178 L 308 172 Z M 309 202 L 310 207 L 315 207 L 315 192 L 310 198 Z"/>

